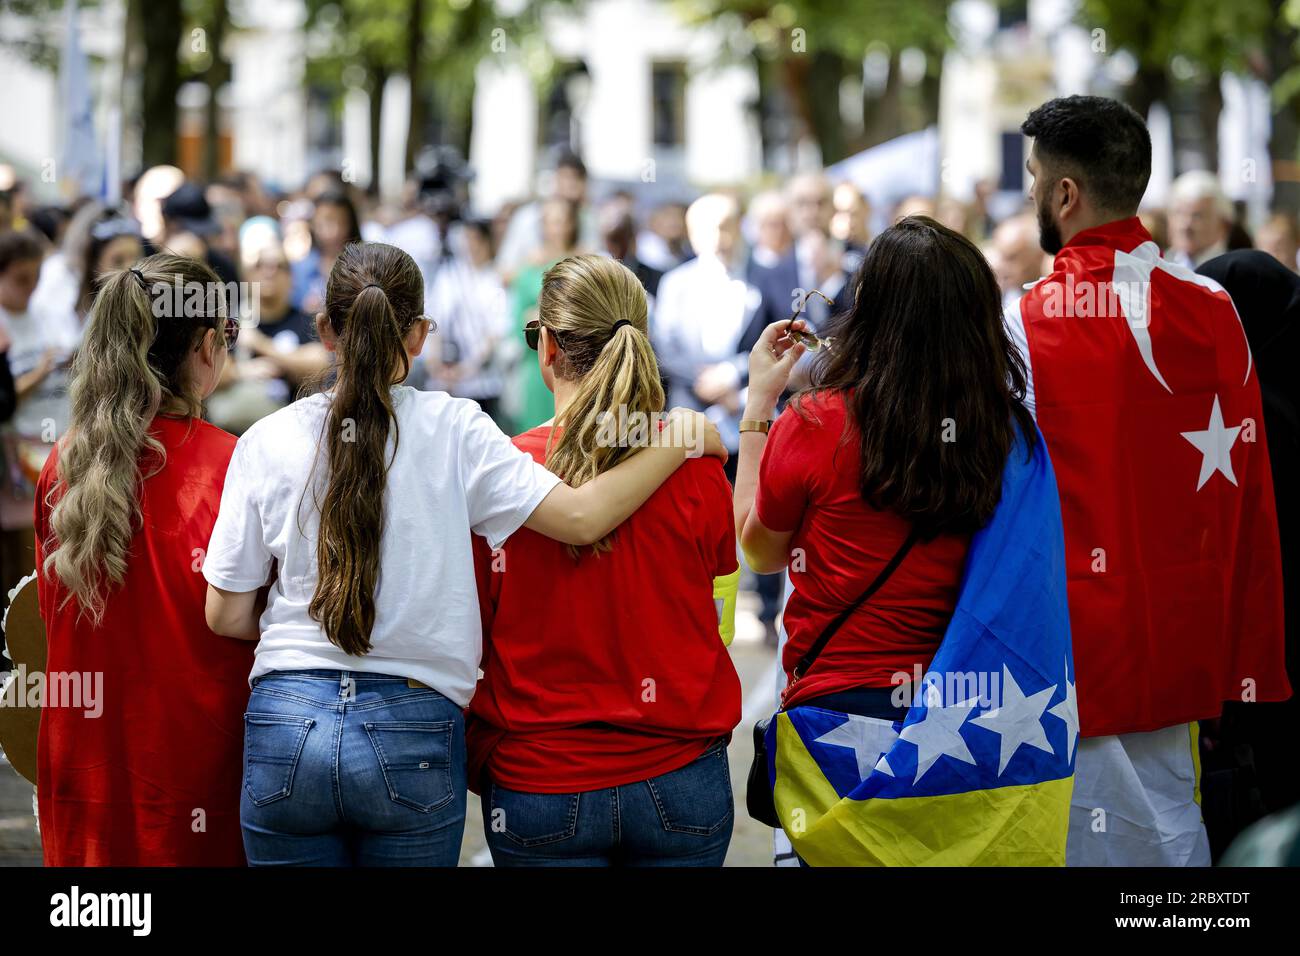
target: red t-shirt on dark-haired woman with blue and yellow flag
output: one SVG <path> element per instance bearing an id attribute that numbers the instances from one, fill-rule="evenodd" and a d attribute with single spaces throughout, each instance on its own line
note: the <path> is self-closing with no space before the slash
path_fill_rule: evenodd
<path id="1" fill-rule="evenodd" d="M 797 399 L 772 424 L 755 507 L 772 531 L 793 531 L 793 593 L 785 606 L 786 676 L 822 631 L 852 605 L 898 550 L 907 523 L 868 506 L 858 489 L 861 445 L 845 431 L 841 393 Z M 792 403 L 793 406 L 794 403 Z M 802 414 L 801 414 L 802 412 Z M 966 562 L 968 536 L 918 542 L 889 581 L 827 644 L 786 704 L 855 687 L 893 687 L 922 671 L 942 640 Z"/>

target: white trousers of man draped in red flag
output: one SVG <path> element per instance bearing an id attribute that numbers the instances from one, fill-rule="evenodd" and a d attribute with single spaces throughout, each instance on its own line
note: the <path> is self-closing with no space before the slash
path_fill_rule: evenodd
<path id="1" fill-rule="evenodd" d="M 1067 866 L 1209 866 L 1196 724 L 1080 737 Z"/>

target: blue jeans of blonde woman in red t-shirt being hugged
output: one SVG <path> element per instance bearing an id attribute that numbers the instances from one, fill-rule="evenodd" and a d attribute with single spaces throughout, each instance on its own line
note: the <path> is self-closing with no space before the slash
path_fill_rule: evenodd
<path id="1" fill-rule="evenodd" d="M 734 823 L 727 745 L 647 780 L 582 793 L 482 793 L 497 866 L 722 866 Z"/>

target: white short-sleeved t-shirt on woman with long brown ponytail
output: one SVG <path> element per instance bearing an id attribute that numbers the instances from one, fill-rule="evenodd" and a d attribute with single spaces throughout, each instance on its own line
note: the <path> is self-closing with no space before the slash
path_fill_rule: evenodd
<path id="1" fill-rule="evenodd" d="M 389 440 L 385 529 L 368 654 L 329 643 L 307 609 L 316 591 L 320 512 L 308 477 L 330 398 L 311 395 L 250 428 L 230 459 L 203 563 L 208 583 L 256 591 L 277 583 L 261 615 L 250 680 L 270 671 L 352 670 L 413 678 L 464 706 L 482 632 L 471 532 L 499 548 L 559 479 L 516 449 L 477 405 L 394 386 L 399 441 Z M 315 483 L 324 496 L 328 451 Z"/>

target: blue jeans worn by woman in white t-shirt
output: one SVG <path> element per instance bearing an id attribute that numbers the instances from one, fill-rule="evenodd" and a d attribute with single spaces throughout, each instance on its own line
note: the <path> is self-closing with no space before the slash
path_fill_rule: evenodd
<path id="1" fill-rule="evenodd" d="M 252 866 L 455 866 L 464 715 L 406 678 L 259 678 L 244 714 L 239 822 Z"/>

